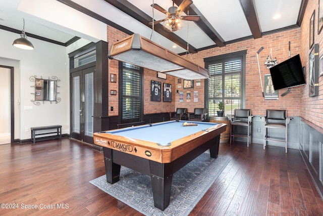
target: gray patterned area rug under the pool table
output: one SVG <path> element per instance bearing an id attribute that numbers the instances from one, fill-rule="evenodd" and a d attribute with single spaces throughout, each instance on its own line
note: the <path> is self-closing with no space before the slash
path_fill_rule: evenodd
<path id="1" fill-rule="evenodd" d="M 127 167 L 121 166 L 120 180 L 113 185 L 106 182 L 105 175 L 90 183 L 145 215 L 188 215 L 229 161 L 203 153 L 175 172 L 170 205 L 164 211 L 153 205 L 150 176 Z"/>

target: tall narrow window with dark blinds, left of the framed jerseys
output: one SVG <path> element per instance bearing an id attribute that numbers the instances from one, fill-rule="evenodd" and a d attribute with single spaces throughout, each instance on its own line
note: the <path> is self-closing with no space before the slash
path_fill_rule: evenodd
<path id="1" fill-rule="evenodd" d="M 122 123 L 141 120 L 142 87 L 141 68 L 129 63 L 122 64 Z"/>

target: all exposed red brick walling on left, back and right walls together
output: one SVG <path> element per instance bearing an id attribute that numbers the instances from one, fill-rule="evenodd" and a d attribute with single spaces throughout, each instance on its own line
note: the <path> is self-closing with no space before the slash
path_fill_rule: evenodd
<path id="1" fill-rule="evenodd" d="M 252 109 L 254 115 L 264 115 L 266 109 L 286 109 L 289 116 L 301 116 L 314 124 L 323 127 L 323 104 L 322 85 L 323 78 L 319 77 L 319 95 L 317 97 L 308 97 L 308 84 L 300 87 L 294 87 L 291 92 L 285 97 L 281 94 L 285 90 L 279 91 L 278 100 L 264 100 L 261 93 L 260 79 L 258 73 L 258 65 L 256 52 L 261 48 L 264 49 L 259 54 L 259 63 L 261 69 L 262 84 L 264 82 L 264 74 L 270 73 L 269 69 L 263 64 L 267 55 L 270 55 L 271 49 L 273 56 L 278 62 L 288 59 L 288 42 L 291 42 L 291 57 L 300 54 L 302 65 L 306 66 L 306 82 L 308 83 L 308 54 L 309 54 L 309 19 L 315 10 L 315 34 L 314 42 L 319 44 L 319 56 L 323 51 L 323 31 L 318 34 L 318 3 L 317 1 L 308 1 L 304 19 L 300 28 L 292 28 L 290 30 L 281 31 L 278 33 L 264 35 L 258 39 L 248 39 L 234 44 L 229 44 L 223 48 L 213 48 L 205 51 L 200 51 L 197 54 L 191 54 L 187 58 L 192 58 L 193 62 L 204 66 L 204 58 L 228 54 L 237 51 L 247 50 L 246 55 L 246 108 Z M 118 31 L 110 26 L 107 26 L 107 41 L 111 43 L 128 36 L 127 34 Z M 118 62 L 109 60 L 109 74 L 117 74 L 118 78 Z M 144 113 L 168 112 L 175 111 L 176 107 L 186 107 L 189 112 L 192 112 L 195 107 L 204 107 L 204 80 L 201 80 L 200 87 L 196 86 L 194 80 L 194 89 L 183 89 L 183 80 L 181 84 L 177 83 L 177 78 L 167 76 L 168 79 L 156 78 L 156 72 L 144 70 Z M 157 80 L 167 83 L 172 83 L 172 102 L 151 102 L 150 101 L 150 80 Z M 118 90 L 117 83 L 109 83 L 110 90 Z M 179 102 L 179 94 L 176 90 L 184 93 L 184 102 Z M 187 102 L 186 93 L 191 92 L 191 100 Z M 193 93 L 198 92 L 198 102 L 194 102 Z M 109 115 L 118 115 L 118 95 L 110 96 L 109 107 L 114 106 L 114 111 L 109 111 Z M 110 109 L 109 109 L 110 110 Z"/>

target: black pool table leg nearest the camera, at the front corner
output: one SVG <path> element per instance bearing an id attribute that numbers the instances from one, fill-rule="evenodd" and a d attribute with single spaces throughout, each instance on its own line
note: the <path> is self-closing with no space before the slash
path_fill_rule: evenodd
<path id="1" fill-rule="evenodd" d="M 170 204 L 174 163 L 149 163 L 154 206 L 165 210 Z"/>

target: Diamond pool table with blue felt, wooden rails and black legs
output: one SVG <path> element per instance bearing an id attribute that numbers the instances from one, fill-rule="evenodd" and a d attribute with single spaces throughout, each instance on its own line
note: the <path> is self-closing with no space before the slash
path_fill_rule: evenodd
<path id="1" fill-rule="evenodd" d="M 220 134 L 226 124 L 165 121 L 114 129 L 93 134 L 94 143 L 103 147 L 106 180 L 119 181 L 120 168 L 128 168 L 150 176 L 154 206 L 164 210 L 170 202 L 173 174 L 194 158 L 210 150 L 217 158 Z"/>

